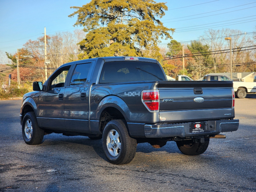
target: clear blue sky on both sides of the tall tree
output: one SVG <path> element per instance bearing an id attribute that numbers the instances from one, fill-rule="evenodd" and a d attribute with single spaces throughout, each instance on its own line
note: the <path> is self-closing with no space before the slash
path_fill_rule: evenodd
<path id="1" fill-rule="evenodd" d="M 157 0 L 157 2 L 165 1 Z M 5 58 L 3 58 L 5 51 L 15 53 L 17 48 L 21 48 L 27 40 L 35 40 L 39 36 L 42 36 L 44 27 L 46 27 L 48 35 L 54 34 L 55 31 L 72 31 L 75 28 L 82 28 L 73 27 L 76 17 L 69 18 L 68 15 L 74 12 L 74 9 L 70 9 L 71 6 L 82 6 L 88 2 L 90 1 L 1 0 L 0 51 L 2 52 L 0 52 L 0 58 L 2 57 L 2 59 L 0 59 L 0 63 L 5 61 Z M 208 28 L 239 29 L 247 33 L 256 31 L 256 0 L 183 0 L 168 1 L 166 5 L 168 6 L 168 11 L 160 20 L 164 23 L 164 26 L 176 28 L 176 32 L 174 32 L 172 37 L 177 41 L 196 40 Z M 180 30 L 184 31 L 181 32 Z M 170 39 L 162 40 L 162 45 L 165 46 L 169 41 Z"/>

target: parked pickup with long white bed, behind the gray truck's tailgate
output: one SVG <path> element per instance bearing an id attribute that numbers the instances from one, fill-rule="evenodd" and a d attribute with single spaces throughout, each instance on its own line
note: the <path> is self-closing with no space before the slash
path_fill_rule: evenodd
<path id="1" fill-rule="evenodd" d="M 233 81 L 224 75 L 205 75 L 203 81 Z M 256 92 L 256 82 L 233 81 L 233 88 L 236 96 L 240 99 L 246 97 L 247 93 Z"/>

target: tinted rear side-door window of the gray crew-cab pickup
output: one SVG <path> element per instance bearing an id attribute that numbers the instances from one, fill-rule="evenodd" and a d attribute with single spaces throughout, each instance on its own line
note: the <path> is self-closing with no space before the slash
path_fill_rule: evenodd
<path id="1" fill-rule="evenodd" d="M 84 85 L 91 67 L 91 63 L 78 64 L 73 72 L 70 86 Z"/>

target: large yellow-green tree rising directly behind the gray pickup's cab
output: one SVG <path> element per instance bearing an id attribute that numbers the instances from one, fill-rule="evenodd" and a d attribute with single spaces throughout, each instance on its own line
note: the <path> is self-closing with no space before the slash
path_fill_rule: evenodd
<path id="1" fill-rule="evenodd" d="M 79 42 L 80 59 L 105 56 L 142 56 L 159 61 L 160 39 L 171 38 L 169 29 L 157 18 L 168 8 L 149 0 L 92 0 L 69 15 L 77 15 L 75 26 L 84 26 L 86 37 Z"/>

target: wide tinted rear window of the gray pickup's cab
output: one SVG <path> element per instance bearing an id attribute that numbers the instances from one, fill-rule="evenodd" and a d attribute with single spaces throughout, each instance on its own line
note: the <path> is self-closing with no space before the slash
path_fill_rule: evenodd
<path id="1" fill-rule="evenodd" d="M 99 83 L 122 83 L 133 81 L 166 81 L 157 63 L 140 61 L 114 61 L 103 65 Z"/>

